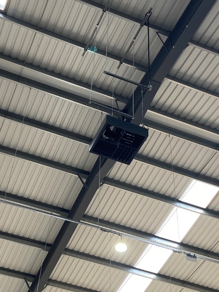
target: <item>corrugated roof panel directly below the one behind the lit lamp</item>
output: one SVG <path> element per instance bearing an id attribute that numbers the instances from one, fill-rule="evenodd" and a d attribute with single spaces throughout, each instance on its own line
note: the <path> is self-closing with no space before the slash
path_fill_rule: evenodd
<path id="1" fill-rule="evenodd" d="M 111 291 L 118 289 L 127 274 L 111 269 Z M 69 256 L 61 256 L 51 278 L 88 289 L 109 292 L 110 268 Z"/>

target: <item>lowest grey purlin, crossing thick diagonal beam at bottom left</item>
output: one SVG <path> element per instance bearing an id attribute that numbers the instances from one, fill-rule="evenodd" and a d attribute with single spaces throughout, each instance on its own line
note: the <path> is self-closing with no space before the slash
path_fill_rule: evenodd
<path id="1" fill-rule="evenodd" d="M 26 280 L 28 282 L 32 282 L 34 280 L 34 277 L 35 277 L 35 275 L 31 275 L 31 274 L 27 274 L 27 273 L 15 271 L 15 270 L 3 268 L 3 267 L 0 267 L 0 274 L 8 276 L 8 277 L 22 279 L 22 280 L 24 280 L 24 278 L 26 278 Z M 84 287 L 80 287 L 80 286 L 76 286 L 76 285 L 71 285 L 68 283 L 63 283 L 63 282 L 52 280 L 52 279 L 49 279 L 47 284 L 48 284 L 48 286 L 51 286 L 51 287 L 64 289 L 64 290 L 68 290 L 68 291 L 72 291 L 72 292 L 98 292 L 96 290 L 91 290 L 88 288 L 84 288 Z"/>

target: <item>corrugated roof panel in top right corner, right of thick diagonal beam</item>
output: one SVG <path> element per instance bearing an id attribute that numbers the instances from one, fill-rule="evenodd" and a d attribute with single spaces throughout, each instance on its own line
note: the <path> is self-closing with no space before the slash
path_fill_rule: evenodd
<path id="1" fill-rule="evenodd" d="M 202 25 L 196 31 L 193 39 L 209 47 L 219 49 L 218 32 L 219 30 L 219 2 L 216 1 L 211 11 L 208 13 Z"/>

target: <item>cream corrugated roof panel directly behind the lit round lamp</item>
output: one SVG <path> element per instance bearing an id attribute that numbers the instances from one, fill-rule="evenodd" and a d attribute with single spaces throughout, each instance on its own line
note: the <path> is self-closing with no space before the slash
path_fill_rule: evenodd
<path id="1" fill-rule="evenodd" d="M 121 238 L 117 234 L 78 225 L 67 248 L 134 266 L 147 244 L 130 238 L 122 238 L 122 242 L 127 244 L 128 250 L 125 253 L 118 253 L 115 245 L 120 241 Z"/>

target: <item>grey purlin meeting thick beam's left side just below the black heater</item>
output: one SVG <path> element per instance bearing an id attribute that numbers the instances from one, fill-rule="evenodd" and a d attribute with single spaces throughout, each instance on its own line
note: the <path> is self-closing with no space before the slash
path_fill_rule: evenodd
<path id="1" fill-rule="evenodd" d="M 6 154 L 6 155 L 15 156 L 15 152 L 16 151 L 15 151 L 15 149 L 8 148 L 8 147 L 0 145 L 0 152 L 3 153 L 3 154 Z M 38 163 L 38 164 L 41 164 L 41 165 L 44 165 L 44 166 L 48 166 L 50 168 L 54 168 L 54 169 L 57 169 L 57 170 L 60 170 L 60 171 L 68 172 L 68 173 L 73 174 L 75 176 L 77 176 L 78 173 L 79 173 L 80 176 L 82 178 L 84 178 L 84 179 L 87 179 L 87 177 L 89 175 L 88 171 L 85 171 L 85 170 L 82 170 L 82 169 L 78 169 L 76 167 L 72 167 L 72 166 L 69 166 L 69 165 L 66 165 L 66 164 L 62 164 L 62 163 L 59 163 L 59 162 L 56 162 L 56 161 L 52 161 L 52 160 L 49 160 L 49 159 L 46 159 L 46 158 L 42 158 L 42 157 L 39 157 L 39 156 L 35 156 L 35 155 L 29 154 L 29 153 L 26 153 L 26 152 L 22 152 L 22 151 L 17 151 L 16 157 L 17 158 L 21 158 L 23 160 L 27 160 L 27 161 L 33 162 L 33 163 Z"/>

